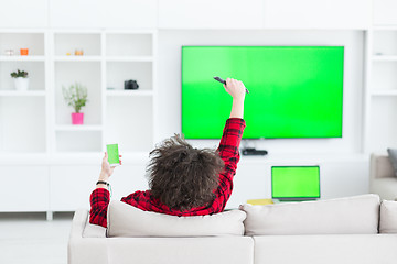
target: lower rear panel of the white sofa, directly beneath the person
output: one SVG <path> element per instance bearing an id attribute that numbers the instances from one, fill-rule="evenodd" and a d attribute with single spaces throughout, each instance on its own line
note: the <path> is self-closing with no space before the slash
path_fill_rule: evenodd
<path id="1" fill-rule="evenodd" d="M 108 264 L 254 264 L 251 237 L 111 238 L 105 240 L 108 245 Z M 96 254 L 95 249 L 93 249 L 93 254 Z M 87 261 L 78 264 L 94 263 Z"/>

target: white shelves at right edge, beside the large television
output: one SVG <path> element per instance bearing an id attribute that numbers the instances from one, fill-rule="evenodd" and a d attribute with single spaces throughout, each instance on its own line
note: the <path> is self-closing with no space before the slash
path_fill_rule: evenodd
<path id="1" fill-rule="evenodd" d="M 366 35 L 365 153 L 397 146 L 397 26 L 373 26 Z"/>

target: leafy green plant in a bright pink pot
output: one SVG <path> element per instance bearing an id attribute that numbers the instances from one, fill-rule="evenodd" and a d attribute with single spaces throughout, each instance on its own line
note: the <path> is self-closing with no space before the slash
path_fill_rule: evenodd
<path id="1" fill-rule="evenodd" d="M 83 124 L 84 113 L 81 110 L 87 102 L 87 88 L 75 82 L 68 89 L 62 87 L 62 91 L 67 106 L 73 107 L 75 110 L 72 113 L 72 124 Z"/>

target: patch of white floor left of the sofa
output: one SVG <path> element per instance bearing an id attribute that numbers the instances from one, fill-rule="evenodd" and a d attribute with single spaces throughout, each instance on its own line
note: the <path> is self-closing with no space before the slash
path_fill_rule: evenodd
<path id="1" fill-rule="evenodd" d="M 73 213 L 0 213 L 1 264 L 66 264 Z"/>

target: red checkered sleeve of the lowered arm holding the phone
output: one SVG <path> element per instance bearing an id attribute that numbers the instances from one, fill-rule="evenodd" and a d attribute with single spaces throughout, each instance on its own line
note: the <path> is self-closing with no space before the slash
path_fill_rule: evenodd
<path id="1" fill-rule="evenodd" d="M 98 226 L 107 227 L 107 207 L 110 201 L 110 194 L 107 189 L 97 188 L 90 197 L 89 222 Z"/>

